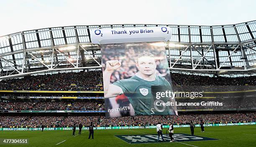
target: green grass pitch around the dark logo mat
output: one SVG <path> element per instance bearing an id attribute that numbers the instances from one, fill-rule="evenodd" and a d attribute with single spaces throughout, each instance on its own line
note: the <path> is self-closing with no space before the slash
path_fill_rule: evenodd
<path id="1" fill-rule="evenodd" d="M 166 129 L 163 130 L 166 133 Z M 189 128 L 174 128 L 174 134 L 190 134 Z M 76 130 L 76 135 L 78 130 Z M 1 147 L 255 147 L 256 125 L 195 128 L 195 135 L 218 140 L 160 142 L 129 144 L 115 135 L 156 134 L 156 129 L 112 129 L 95 130 L 94 139 L 89 132 L 72 136 L 70 131 L 1 131 Z M 28 139 L 27 144 L 4 144 L 3 139 Z"/>

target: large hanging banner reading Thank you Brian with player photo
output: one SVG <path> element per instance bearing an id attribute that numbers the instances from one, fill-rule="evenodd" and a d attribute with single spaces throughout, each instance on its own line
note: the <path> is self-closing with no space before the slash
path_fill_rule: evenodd
<path id="1" fill-rule="evenodd" d="M 164 41 L 168 27 L 93 30 L 100 43 L 106 118 L 177 114 Z"/>

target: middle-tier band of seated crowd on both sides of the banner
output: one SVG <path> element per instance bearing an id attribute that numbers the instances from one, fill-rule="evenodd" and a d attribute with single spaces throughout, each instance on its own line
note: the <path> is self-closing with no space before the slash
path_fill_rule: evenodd
<path id="1" fill-rule="evenodd" d="M 177 104 L 200 103 L 199 106 L 177 106 L 178 110 L 186 109 L 214 109 L 214 110 L 241 110 L 256 109 L 256 98 L 214 98 L 214 99 L 176 99 Z M 218 101 L 222 106 L 202 106 L 204 101 Z M 103 99 L 90 100 L 69 100 L 48 99 L 48 100 L 0 100 L 0 110 L 105 110 Z"/>

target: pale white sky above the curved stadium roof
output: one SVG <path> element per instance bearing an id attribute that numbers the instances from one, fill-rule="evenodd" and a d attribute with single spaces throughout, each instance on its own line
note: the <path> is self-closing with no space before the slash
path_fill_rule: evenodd
<path id="1" fill-rule="evenodd" d="M 228 25 L 256 20 L 256 0 L 0 0 L 0 36 L 70 25 Z"/>

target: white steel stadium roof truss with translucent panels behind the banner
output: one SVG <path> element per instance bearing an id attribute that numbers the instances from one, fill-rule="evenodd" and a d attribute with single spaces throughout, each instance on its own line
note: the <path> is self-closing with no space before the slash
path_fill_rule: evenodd
<path id="1" fill-rule="evenodd" d="M 256 21 L 235 25 L 86 25 L 28 30 L 0 37 L 0 79 L 53 71 L 101 68 L 94 28 L 169 26 L 166 55 L 172 71 L 256 73 Z"/>

